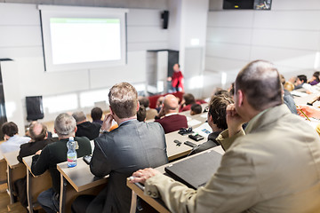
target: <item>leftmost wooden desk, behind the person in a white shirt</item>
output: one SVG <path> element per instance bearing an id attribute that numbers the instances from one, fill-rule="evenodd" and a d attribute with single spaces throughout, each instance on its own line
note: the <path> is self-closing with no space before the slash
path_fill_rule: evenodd
<path id="1" fill-rule="evenodd" d="M 18 155 L 19 151 L 4 154 L 4 159 L 7 162 L 8 193 L 11 204 L 14 202 L 14 181 L 26 176 L 26 166 L 23 163 L 18 162 Z"/>

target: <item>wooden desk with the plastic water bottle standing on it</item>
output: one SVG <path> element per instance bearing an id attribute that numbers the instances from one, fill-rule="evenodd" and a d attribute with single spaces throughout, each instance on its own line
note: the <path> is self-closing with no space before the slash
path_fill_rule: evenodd
<path id="1" fill-rule="evenodd" d="M 107 177 L 95 177 L 88 164 L 81 158 L 77 159 L 77 165 L 68 168 L 67 162 L 57 165 L 60 171 L 60 213 L 71 212 L 71 204 L 80 194 L 98 194 L 107 184 Z M 66 210 L 67 209 L 67 210 Z"/>

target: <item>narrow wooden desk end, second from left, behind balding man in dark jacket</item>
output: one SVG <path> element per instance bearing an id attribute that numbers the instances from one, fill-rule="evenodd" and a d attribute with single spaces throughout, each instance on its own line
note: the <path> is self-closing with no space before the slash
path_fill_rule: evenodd
<path id="1" fill-rule="evenodd" d="M 32 157 L 22 158 L 23 163 L 27 168 L 27 197 L 28 197 L 28 212 L 33 213 L 34 209 L 40 209 L 39 203 L 36 201 L 39 193 L 52 187 L 52 178 L 50 172 L 47 170 L 44 174 L 35 176 L 31 171 Z M 41 184 L 39 184 L 41 183 Z"/>

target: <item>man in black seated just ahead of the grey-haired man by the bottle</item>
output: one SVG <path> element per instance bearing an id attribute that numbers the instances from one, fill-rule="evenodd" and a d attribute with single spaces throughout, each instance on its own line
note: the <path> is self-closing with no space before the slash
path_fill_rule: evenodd
<path id="1" fill-rule="evenodd" d="M 98 122 L 88 122 L 84 112 L 72 114 L 76 119 L 76 137 L 86 137 L 90 140 L 98 138 L 101 124 Z"/>

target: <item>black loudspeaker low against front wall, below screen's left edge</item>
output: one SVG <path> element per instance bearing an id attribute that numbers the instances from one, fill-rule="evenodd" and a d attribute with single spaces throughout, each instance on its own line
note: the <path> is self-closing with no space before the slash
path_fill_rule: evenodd
<path id="1" fill-rule="evenodd" d="M 27 120 L 36 121 L 44 118 L 44 106 L 42 103 L 42 96 L 26 97 L 27 106 Z"/>

